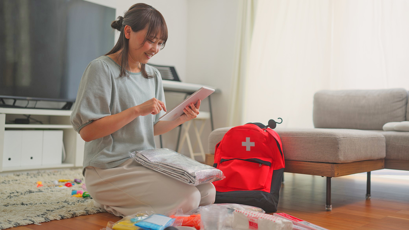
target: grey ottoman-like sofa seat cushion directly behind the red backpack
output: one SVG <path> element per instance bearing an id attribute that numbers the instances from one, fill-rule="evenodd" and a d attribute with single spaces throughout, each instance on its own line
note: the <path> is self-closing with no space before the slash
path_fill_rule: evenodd
<path id="1" fill-rule="evenodd" d="M 209 135 L 209 151 L 231 127 Z M 283 143 L 285 160 L 346 163 L 385 158 L 385 137 L 381 132 L 356 129 L 275 129 Z"/>

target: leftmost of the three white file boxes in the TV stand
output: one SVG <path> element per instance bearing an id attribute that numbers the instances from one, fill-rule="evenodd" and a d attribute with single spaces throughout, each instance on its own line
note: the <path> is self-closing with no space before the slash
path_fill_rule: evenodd
<path id="1" fill-rule="evenodd" d="M 21 130 L 5 130 L 3 146 L 3 167 L 19 167 L 21 165 Z"/>

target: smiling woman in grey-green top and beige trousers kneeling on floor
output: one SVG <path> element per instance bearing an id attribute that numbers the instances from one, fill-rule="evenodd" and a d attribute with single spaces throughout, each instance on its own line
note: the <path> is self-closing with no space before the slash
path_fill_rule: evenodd
<path id="1" fill-rule="evenodd" d="M 175 121 L 159 121 L 166 112 L 160 73 L 146 63 L 168 37 L 155 8 L 138 3 L 111 27 L 116 45 L 92 61 L 83 74 L 71 123 L 86 141 L 83 175 L 94 205 L 117 216 L 138 211 L 187 212 L 214 202 L 211 183 L 191 186 L 139 165 L 130 153 L 154 149 L 160 135 L 195 118 L 200 101 Z"/>

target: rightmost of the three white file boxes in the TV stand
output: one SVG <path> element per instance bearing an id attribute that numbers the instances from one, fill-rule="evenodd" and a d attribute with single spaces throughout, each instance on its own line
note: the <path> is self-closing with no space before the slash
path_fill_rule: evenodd
<path id="1" fill-rule="evenodd" d="M 63 155 L 63 131 L 44 130 L 43 165 L 61 165 Z"/>

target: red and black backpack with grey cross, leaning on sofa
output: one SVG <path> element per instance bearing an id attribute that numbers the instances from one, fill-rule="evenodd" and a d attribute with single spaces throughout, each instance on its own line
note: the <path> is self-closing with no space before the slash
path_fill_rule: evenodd
<path id="1" fill-rule="evenodd" d="M 276 122 L 270 120 L 269 126 L 274 129 Z M 231 128 L 216 145 L 213 167 L 226 176 L 213 182 L 215 203 L 277 211 L 285 165 L 281 139 L 274 130 L 261 123 Z"/>

